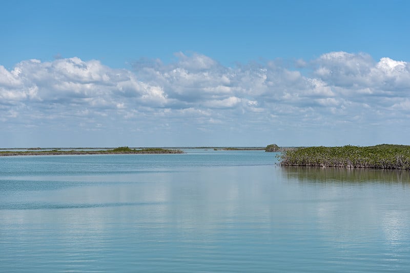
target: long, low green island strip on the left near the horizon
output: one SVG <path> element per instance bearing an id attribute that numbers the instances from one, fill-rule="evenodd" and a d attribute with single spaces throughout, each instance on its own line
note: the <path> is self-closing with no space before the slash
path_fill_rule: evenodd
<path id="1" fill-rule="evenodd" d="M 0 156 L 14 156 L 14 155 L 81 155 L 81 154 L 176 154 L 183 153 L 179 149 L 163 149 L 163 148 L 143 148 L 131 149 L 128 146 L 117 147 L 115 149 L 106 150 L 35 150 L 27 149 L 27 151 L 0 151 Z"/>

